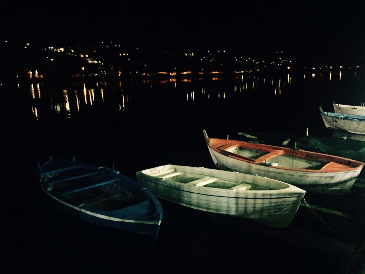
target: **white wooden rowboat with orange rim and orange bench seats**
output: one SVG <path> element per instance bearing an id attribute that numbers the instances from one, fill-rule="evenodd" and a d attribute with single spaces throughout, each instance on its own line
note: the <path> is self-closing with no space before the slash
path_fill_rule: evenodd
<path id="1" fill-rule="evenodd" d="M 205 141 L 216 167 L 258 174 L 307 191 L 346 194 L 364 163 L 322 153 L 244 141 L 208 138 Z"/>

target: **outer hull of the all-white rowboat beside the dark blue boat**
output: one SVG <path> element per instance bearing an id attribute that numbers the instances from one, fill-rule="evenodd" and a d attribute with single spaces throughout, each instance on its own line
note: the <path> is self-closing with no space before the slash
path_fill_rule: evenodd
<path id="1" fill-rule="evenodd" d="M 202 169 L 196 168 L 195 172 L 201 172 Z M 207 171 L 209 169 L 205 169 L 205 172 Z M 216 170 L 215 172 L 231 173 Z M 251 176 L 238 172 L 234 174 L 242 177 Z M 297 192 L 289 188 L 283 191 L 239 192 L 231 189 L 178 185 L 142 172 L 137 172 L 136 176 L 139 183 L 166 201 L 206 212 L 248 218 L 274 227 L 287 227 L 291 223 L 305 194 L 305 191 L 298 188 L 295 188 Z"/>

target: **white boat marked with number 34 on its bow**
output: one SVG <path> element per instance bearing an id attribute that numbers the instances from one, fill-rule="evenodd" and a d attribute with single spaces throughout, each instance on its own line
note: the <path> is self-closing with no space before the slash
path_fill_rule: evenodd
<path id="1" fill-rule="evenodd" d="M 325 112 L 319 107 L 327 129 L 365 135 L 365 116 Z"/>

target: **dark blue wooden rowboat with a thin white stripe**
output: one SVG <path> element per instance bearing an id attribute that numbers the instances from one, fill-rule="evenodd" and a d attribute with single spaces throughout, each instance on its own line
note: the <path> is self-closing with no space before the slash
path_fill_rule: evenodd
<path id="1" fill-rule="evenodd" d="M 119 171 L 97 165 L 50 160 L 39 168 L 39 186 L 66 214 L 113 231 L 155 239 L 162 206 L 157 198 Z"/>

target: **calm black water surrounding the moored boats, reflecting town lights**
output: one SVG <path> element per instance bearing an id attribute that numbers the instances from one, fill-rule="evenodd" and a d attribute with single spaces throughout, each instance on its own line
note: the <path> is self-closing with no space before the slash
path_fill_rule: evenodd
<path id="1" fill-rule="evenodd" d="M 9 235 L 9 254 L 14 254 L 10 256 L 13 266 L 16 262 L 45 269 L 60 265 L 68 272 L 105 267 L 137 273 L 217 269 L 354 273 L 343 270 L 351 265 L 347 254 L 326 251 L 341 246 L 322 236 L 337 239 L 337 235 L 303 207 L 293 225 L 278 231 L 165 202 L 160 234 L 155 245 L 145 250 L 60 216 L 48 208 L 34 181 L 37 163 L 49 155 L 76 156 L 106 167 L 114 164 L 133 179 L 136 171 L 163 164 L 215 168 L 202 129 L 210 137 L 229 134 L 232 139 L 238 132 L 304 134 L 306 128 L 310 135 L 331 136 L 319 106 L 333 111 L 332 99 L 343 104 L 365 102 L 364 76 L 362 71 L 313 70 L 305 74 L 3 84 L 4 146 L 12 168 L 5 196 L 7 212 L 13 214 L 5 235 Z M 307 193 L 305 198 L 356 216 L 320 217 L 331 222 L 345 235 L 344 242 L 355 249 L 364 243 L 360 231 L 365 222 L 357 221 L 364 216 L 364 207 L 351 207 L 365 205 L 364 190 L 353 189 L 346 197 Z M 344 227 L 349 220 L 350 227 Z M 283 232 L 292 239 L 280 238 Z M 317 234 L 322 236 L 316 239 Z M 310 238 L 323 250 L 306 246 Z M 356 262 L 348 267 L 351 271 L 360 271 Z"/>

